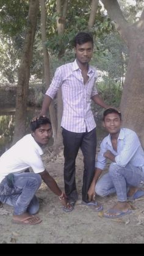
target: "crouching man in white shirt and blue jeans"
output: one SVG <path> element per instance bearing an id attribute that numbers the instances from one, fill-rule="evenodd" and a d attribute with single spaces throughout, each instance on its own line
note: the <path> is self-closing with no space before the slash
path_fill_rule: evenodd
<path id="1" fill-rule="evenodd" d="M 32 134 L 27 134 L 16 142 L 0 158 L 0 201 L 14 207 L 13 222 L 35 225 L 41 222 L 34 216 L 39 210 L 35 192 L 41 179 L 67 208 L 65 194 L 43 166 L 41 146 L 46 145 L 52 135 L 51 122 L 47 117 L 39 117 L 31 122 Z M 24 172 L 31 167 L 33 172 Z"/>

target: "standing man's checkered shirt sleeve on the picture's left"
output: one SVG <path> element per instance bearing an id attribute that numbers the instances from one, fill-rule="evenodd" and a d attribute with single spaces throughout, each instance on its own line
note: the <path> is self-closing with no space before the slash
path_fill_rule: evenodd
<path id="1" fill-rule="evenodd" d="M 59 67 L 56 69 L 54 78 L 52 79 L 49 89 L 46 90 L 45 94 L 53 99 L 56 96 L 56 93 L 59 90 L 60 86 L 62 86 L 62 72 Z"/>

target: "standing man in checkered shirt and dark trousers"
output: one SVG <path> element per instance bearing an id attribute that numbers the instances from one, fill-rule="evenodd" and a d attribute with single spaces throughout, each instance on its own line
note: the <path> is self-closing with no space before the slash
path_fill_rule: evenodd
<path id="1" fill-rule="evenodd" d="M 46 115 L 51 100 L 62 88 L 63 115 L 62 136 L 64 145 L 64 183 L 65 193 L 74 208 L 78 198 L 76 190 L 76 156 L 81 148 L 84 155 L 84 175 L 82 203 L 101 210 L 97 202 L 88 202 L 87 191 L 95 172 L 96 123 L 92 114 L 91 102 L 108 108 L 99 97 L 95 87 L 97 78 L 94 67 L 88 65 L 93 54 L 93 38 L 86 32 L 79 32 L 74 38 L 74 62 L 57 68 L 49 89 L 46 91 L 40 115 Z M 69 208 L 63 208 L 70 211 Z"/>

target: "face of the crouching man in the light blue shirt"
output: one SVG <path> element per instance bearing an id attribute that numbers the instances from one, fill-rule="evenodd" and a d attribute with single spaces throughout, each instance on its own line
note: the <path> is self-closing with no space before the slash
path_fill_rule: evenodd
<path id="1" fill-rule="evenodd" d="M 121 120 L 119 115 L 116 113 L 106 115 L 103 126 L 110 134 L 119 133 L 121 128 Z"/>

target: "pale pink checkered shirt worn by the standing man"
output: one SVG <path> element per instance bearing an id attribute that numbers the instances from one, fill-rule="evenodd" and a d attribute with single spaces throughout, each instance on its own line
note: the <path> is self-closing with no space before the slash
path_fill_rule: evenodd
<path id="1" fill-rule="evenodd" d="M 91 110 L 91 98 L 98 94 L 95 81 L 96 69 L 89 66 L 88 81 L 84 84 L 81 69 L 74 62 L 57 68 L 46 95 L 52 99 L 55 97 L 60 86 L 62 87 L 63 115 L 61 126 L 65 130 L 74 133 L 92 131 L 96 127 L 95 119 Z"/>

